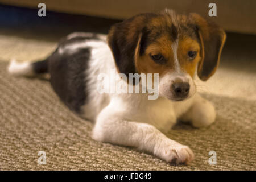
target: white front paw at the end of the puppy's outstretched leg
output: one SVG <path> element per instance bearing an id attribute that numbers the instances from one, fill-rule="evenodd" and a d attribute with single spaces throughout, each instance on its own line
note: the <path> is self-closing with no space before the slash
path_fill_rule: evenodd
<path id="1" fill-rule="evenodd" d="M 171 144 L 164 147 L 161 157 L 171 164 L 188 164 L 194 159 L 194 154 L 188 146 Z"/>

